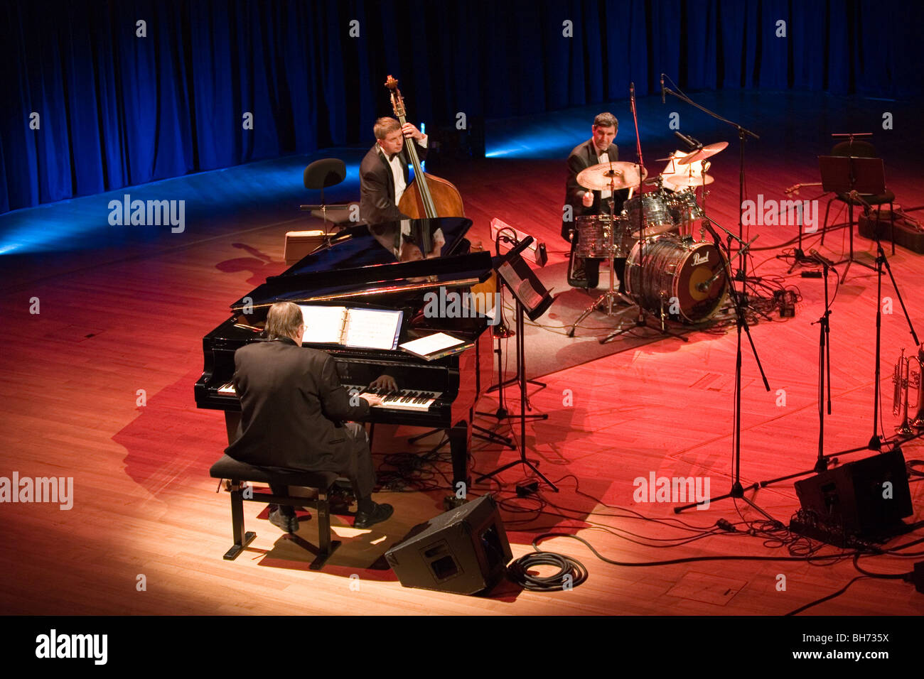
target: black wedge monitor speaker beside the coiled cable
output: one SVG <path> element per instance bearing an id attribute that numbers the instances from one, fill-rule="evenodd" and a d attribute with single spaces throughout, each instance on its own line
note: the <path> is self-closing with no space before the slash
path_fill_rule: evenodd
<path id="1" fill-rule="evenodd" d="M 477 594 L 494 587 L 513 558 L 492 495 L 414 527 L 385 559 L 404 587 Z"/>

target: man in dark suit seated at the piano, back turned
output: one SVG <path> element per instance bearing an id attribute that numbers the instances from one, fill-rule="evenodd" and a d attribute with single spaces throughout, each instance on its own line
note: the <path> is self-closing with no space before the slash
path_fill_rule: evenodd
<path id="1" fill-rule="evenodd" d="M 235 352 L 234 386 L 240 396 L 237 440 L 225 453 L 236 460 L 272 470 L 334 471 L 353 484 L 358 512 L 355 526 L 371 527 L 392 515 L 390 504 L 371 499 L 375 469 L 369 439 L 355 421 L 369 415 L 382 399 L 371 394 L 352 399 L 340 384 L 334 358 L 303 348 L 301 309 L 292 302 L 274 304 L 266 317 L 268 342 Z M 271 486 L 274 494 L 286 487 Z M 289 533 L 298 530 L 295 510 L 270 505 L 270 521 Z"/>

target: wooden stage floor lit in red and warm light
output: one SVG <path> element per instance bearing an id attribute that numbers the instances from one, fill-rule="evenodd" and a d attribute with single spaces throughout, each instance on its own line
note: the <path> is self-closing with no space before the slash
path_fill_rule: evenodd
<path id="1" fill-rule="evenodd" d="M 819 113 L 819 120 L 827 120 L 825 115 Z M 630 155 L 629 128 L 624 120 L 617 138 L 624 157 Z M 809 132 L 823 137 L 814 127 Z M 788 144 L 749 146 L 749 198 L 760 193 L 779 200 L 786 186 L 816 180 L 814 152 L 798 148 L 798 135 L 788 139 Z M 709 206 L 714 219 L 731 226 L 736 224 L 737 165 L 735 139 L 729 140 L 732 148 L 713 159 L 716 182 Z M 919 169 L 897 157 L 900 143 L 891 148 L 894 157 L 882 155 L 898 202 L 924 203 Z M 558 236 L 564 173 L 561 159 L 487 159 L 441 175 L 462 191 L 476 236 L 487 242 L 490 219 L 500 217 L 544 239 L 554 263 L 565 256 Z M 800 198 L 816 195 L 810 190 Z M 740 501 L 716 502 L 679 516 L 670 503 L 633 501 L 634 479 L 652 473 L 698 476 L 710 480 L 713 493 L 728 490 L 734 329 L 694 332 L 687 343 L 665 338 L 548 374 L 542 378 L 544 389 L 530 389 L 535 411 L 549 418 L 529 423 L 529 457 L 560 481 L 562 491 L 541 489 L 538 498 L 518 500 L 514 484 L 527 474 L 515 467 L 501 482 L 478 485 L 473 492 L 494 491 L 502 500 L 515 556 L 529 552 L 530 541 L 551 530 L 580 536 L 619 563 L 598 560 L 577 540 L 543 541 L 542 549 L 572 555 L 590 569 L 589 580 L 572 591 L 538 593 L 505 584 L 487 597 L 464 597 L 402 588 L 376 562 L 411 527 L 442 511 L 444 491 L 439 490 L 383 493 L 378 499 L 393 503 L 395 515 L 368 531 L 334 517 L 343 546 L 321 572 L 309 570 L 310 557 L 265 520 L 261 505 L 248 503 L 247 524 L 257 538 L 237 561 L 223 561 L 230 544 L 228 499 L 215 493 L 208 468 L 224 447 L 224 423 L 220 413 L 196 409 L 192 386 L 201 373 L 201 337 L 225 319 L 231 301 L 285 268 L 283 234 L 295 221 L 271 223 L 260 216 L 260 197 L 253 200 L 246 220 L 198 237 L 153 242 L 130 257 L 100 259 L 93 250 L 76 250 L 55 255 L 55 267 L 63 262 L 61 268 L 33 258 L 7 269 L 0 297 L 7 331 L 0 358 L 0 476 L 18 471 L 20 477 L 73 477 L 75 487 L 70 510 L 49 504 L 2 507 L 6 548 L 0 552 L 0 612 L 779 615 L 835 592 L 858 575 L 851 560 L 837 558 L 840 552 L 833 547 L 815 544 L 820 558 L 808 563 L 806 540 L 792 540 L 784 531 L 770 537 L 748 534 L 765 526 L 762 516 Z M 822 214 L 823 209 L 822 201 Z M 837 221 L 845 221 L 844 213 Z M 760 235 L 757 245 L 770 247 L 796 236 L 796 227 L 753 226 L 750 235 Z M 812 236 L 806 247 L 840 259 L 844 236 L 844 229 L 832 231 L 823 247 Z M 857 236 L 855 243 L 869 257 L 870 242 Z M 817 452 L 818 326 L 812 322 L 821 315 L 823 289 L 821 279 L 801 278 L 798 269 L 787 275 L 788 264 L 774 259 L 781 251 L 757 251 L 756 273 L 796 285 L 802 300 L 795 318 L 774 315 L 752 328 L 769 393 L 747 343 L 744 347 L 741 474 L 746 483 L 810 468 Z M 918 332 L 924 332 L 924 256 L 899 248 L 890 262 Z M 888 279 L 883 295 L 894 299 Z M 40 299 L 39 314 L 30 314 L 32 297 Z M 886 434 L 895 422 L 892 366 L 902 347 L 913 348 L 897 300 L 891 311 L 882 316 Z M 592 318 L 599 325 L 614 322 Z M 854 264 L 833 302 L 833 414 L 825 418 L 826 452 L 863 446 L 872 433 L 875 318 L 876 276 Z M 516 409 L 516 401 L 512 405 Z M 492 397 L 482 398 L 480 409 L 494 407 Z M 490 425 L 487 418 L 479 423 Z M 409 446 L 407 436 L 414 433 L 378 428 L 376 462 L 434 443 Z M 909 460 L 924 457 L 919 441 L 904 450 Z M 475 443 L 473 465 L 486 471 L 514 455 Z M 840 463 L 865 455 L 843 455 Z M 443 482 L 439 469 L 446 468 L 438 465 L 434 483 Z M 924 519 L 919 479 L 911 483 L 915 514 L 909 523 Z M 748 496 L 786 524 L 798 506 L 791 481 Z M 717 530 L 720 519 L 736 532 Z M 918 529 L 890 545 L 920 535 Z M 302 522 L 300 536 L 315 540 L 313 519 Z M 832 558 L 821 560 L 823 555 Z M 698 561 L 719 556 L 767 560 Z M 885 555 L 864 558 L 860 565 L 896 574 L 910 571 L 919 558 Z M 639 565 L 665 561 L 672 563 Z M 778 587 L 781 576 L 784 590 Z M 924 596 L 902 580 L 867 578 L 809 612 L 920 614 Z"/>

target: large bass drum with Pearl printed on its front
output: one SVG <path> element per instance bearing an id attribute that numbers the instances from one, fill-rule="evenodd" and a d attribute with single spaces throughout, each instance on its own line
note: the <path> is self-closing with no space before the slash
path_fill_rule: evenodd
<path id="1" fill-rule="evenodd" d="M 663 236 L 644 244 L 644 259 L 643 267 L 636 243 L 626 259 L 626 293 L 638 306 L 689 323 L 708 320 L 722 306 L 725 262 L 711 243 Z"/>

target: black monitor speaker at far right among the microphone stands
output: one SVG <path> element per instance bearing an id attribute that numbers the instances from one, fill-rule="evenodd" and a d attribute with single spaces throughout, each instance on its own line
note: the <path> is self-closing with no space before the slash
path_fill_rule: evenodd
<path id="1" fill-rule="evenodd" d="M 891 484 L 890 493 L 886 491 Z M 873 455 L 796 481 L 802 509 L 829 526 L 863 538 L 886 538 L 912 514 L 905 456 L 900 450 Z"/>

